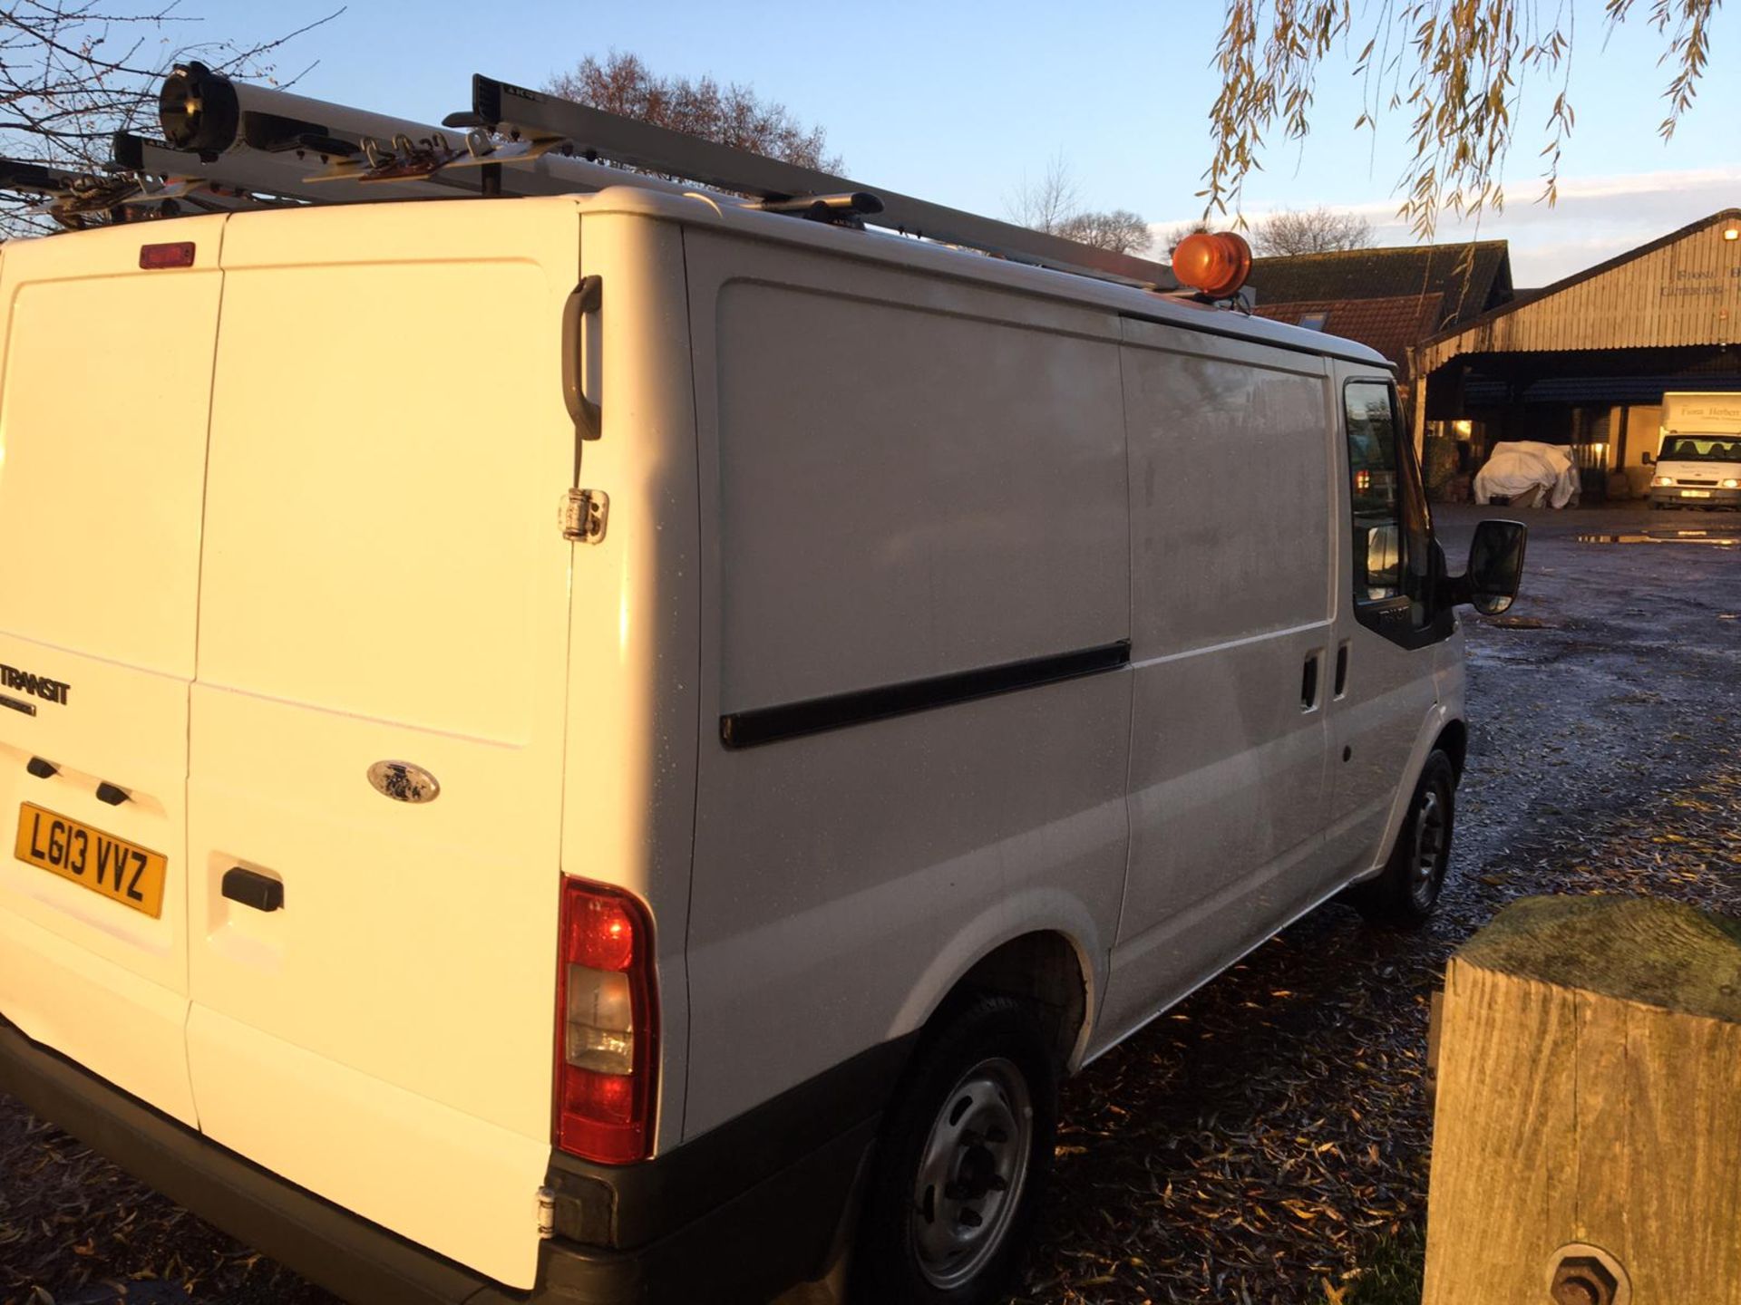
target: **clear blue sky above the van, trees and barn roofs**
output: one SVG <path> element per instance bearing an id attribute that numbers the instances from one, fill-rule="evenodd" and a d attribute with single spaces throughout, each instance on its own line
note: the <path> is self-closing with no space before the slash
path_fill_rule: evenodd
<path id="1" fill-rule="evenodd" d="M 1577 21 L 1570 84 L 1577 127 L 1562 162 L 1560 205 L 1534 202 L 1537 124 L 1553 94 L 1543 85 L 1525 94 L 1506 212 L 1480 230 L 1513 242 L 1520 285 L 1741 205 L 1741 78 L 1722 71 L 1706 78 L 1692 115 L 1664 144 L 1656 136 L 1668 77 L 1656 66 L 1661 40 L 1642 21 L 1605 40 L 1600 0 L 1569 2 Z M 258 38 L 331 7 L 183 0 L 178 12 L 200 23 L 178 28 L 174 38 Z M 1741 57 L 1738 10 L 1715 21 L 1717 70 Z M 822 124 L 848 176 L 872 188 L 1001 218 L 1024 177 L 1041 176 L 1062 153 L 1086 205 L 1135 209 L 1173 224 L 1201 211 L 1193 193 L 1208 162 L 1220 12 L 1213 0 L 1074 7 L 350 0 L 343 16 L 287 47 L 279 68 L 292 73 L 319 59 L 299 92 L 437 120 L 468 106 L 474 71 L 541 85 L 588 52 L 634 50 L 658 71 L 749 82 Z M 1320 204 L 1358 209 L 1384 242 L 1408 242 L 1389 221 L 1407 118 L 1389 115 L 1375 134 L 1356 132 L 1360 106 L 1351 61 L 1332 61 L 1311 137 L 1266 153 L 1264 171 L 1247 186 L 1247 214 Z M 1468 235 L 1442 231 L 1442 238 Z"/>

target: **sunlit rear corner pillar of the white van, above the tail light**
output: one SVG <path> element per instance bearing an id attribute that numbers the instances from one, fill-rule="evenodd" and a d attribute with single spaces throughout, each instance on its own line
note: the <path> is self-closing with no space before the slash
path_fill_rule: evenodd
<path id="1" fill-rule="evenodd" d="M 575 548 L 562 867 L 651 907 L 658 950 L 655 1147 L 682 1140 L 689 1049 L 684 943 L 700 713 L 700 510 L 682 228 L 583 216 L 581 271 L 602 282 L 587 390 L 601 435 L 580 478 L 611 498 L 604 539 Z M 595 364 L 595 371 L 594 365 Z"/>

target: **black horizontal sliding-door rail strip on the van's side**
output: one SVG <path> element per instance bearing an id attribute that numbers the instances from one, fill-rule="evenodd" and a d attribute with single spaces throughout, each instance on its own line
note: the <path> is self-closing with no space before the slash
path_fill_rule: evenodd
<path id="1" fill-rule="evenodd" d="M 991 698 L 999 693 L 1038 689 L 1043 684 L 1072 680 L 1078 675 L 1095 675 L 1128 665 L 1130 640 L 1121 639 L 1116 644 L 1100 644 L 1076 652 L 1053 652 L 1029 661 L 884 684 L 877 689 L 811 698 L 803 703 L 757 706 L 750 712 L 719 717 L 719 741 L 728 748 L 754 748 L 763 743 L 820 734 L 825 729 L 846 729 L 870 720 L 886 720 L 893 715 L 970 703 L 975 698 Z"/>

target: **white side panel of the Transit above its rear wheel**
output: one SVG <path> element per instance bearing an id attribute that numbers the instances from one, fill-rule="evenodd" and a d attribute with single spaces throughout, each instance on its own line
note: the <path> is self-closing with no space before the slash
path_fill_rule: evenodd
<path id="1" fill-rule="evenodd" d="M 759 746 L 721 715 L 1118 646 L 1130 571 L 1116 318 L 686 240 L 717 494 L 693 1136 L 916 1028 L 1022 933 L 1065 933 L 1097 990 L 1125 858 L 1121 668 Z"/>

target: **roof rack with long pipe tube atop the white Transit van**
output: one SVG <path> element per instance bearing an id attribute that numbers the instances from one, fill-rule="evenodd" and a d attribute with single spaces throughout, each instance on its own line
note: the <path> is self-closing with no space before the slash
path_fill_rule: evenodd
<path id="1" fill-rule="evenodd" d="M 1177 291 L 1161 263 L 928 204 L 817 169 L 716 144 L 604 110 L 477 75 L 472 108 L 440 127 L 232 82 L 200 63 L 176 66 L 158 94 L 164 139 L 122 132 L 113 171 L 84 177 L 0 164 L 0 190 L 49 197 L 66 224 L 178 211 L 573 195 L 606 186 L 693 193 L 723 202 L 975 249 L 1057 271 Z M 629 171 L 639 169 L 639 171 Z M 749 197 L 747 200 L 736 197 Z"/>

